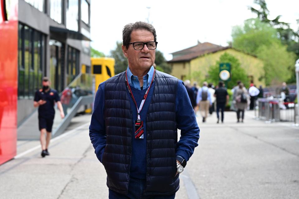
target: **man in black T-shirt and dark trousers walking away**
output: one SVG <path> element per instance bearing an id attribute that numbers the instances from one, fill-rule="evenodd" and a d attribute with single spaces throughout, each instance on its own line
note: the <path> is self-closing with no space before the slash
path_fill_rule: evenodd
<path id="1" fill-rule="evenodd" d="M 219 109 L 221 109 L 221 122 L 224 119 L 224 109 L 225 105 L 228 103 L 229 95 L 226 88 L 223 86 L 223 82 L 219 82 L 219 88 L 216 89 L 214 96 L 216 97 L 216 113 L 217 113 L 217 123 L 219 123 Z"/>

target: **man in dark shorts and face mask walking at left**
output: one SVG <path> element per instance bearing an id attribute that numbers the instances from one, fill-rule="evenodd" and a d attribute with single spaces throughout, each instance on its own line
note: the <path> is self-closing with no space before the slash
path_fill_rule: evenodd
<path id="1" fill-rule="evenodd" d="M 39 90 L 36 90 L 33 102 L 34 107 L 38 107 L 38 124 L 40 130 L 42 157 L 50 155 L 48 148 L 51 140 L 51 132 L 55 116 L 55 102 L 57 103 L 57 107 L 60 111 L 60 117 L 62 119 L 64 118 L 64 112 L 59 95 L 56 90 L 50 88 L 50 84 L 51 82 L 48 77 L 44 77 L 42 81 L 43 87 Z"/>

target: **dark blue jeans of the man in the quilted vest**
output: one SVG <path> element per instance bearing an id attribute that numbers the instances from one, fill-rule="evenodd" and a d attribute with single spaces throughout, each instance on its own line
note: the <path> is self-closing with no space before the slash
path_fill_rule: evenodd
<path id="1" fill-rule="evenodd" d="M 109 199 L 174 199 L 175 194 L 168 196 L 143 196 L 145 180 L 131 178 L 127 195 L 123 195 L 109 189 Z"/>

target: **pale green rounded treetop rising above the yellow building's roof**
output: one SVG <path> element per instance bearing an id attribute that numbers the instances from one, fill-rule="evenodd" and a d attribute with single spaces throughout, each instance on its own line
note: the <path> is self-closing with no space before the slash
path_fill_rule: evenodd
<path id="1" fill-rule="evenodd" d="M 277 31 L 259 19 L 248 19 L 244 21 L 244 25 L 234 26 L 231 36 L 233 48 L 254 55 L 262 45 L 271 46 L 273 43 L 280 43 Z"/>

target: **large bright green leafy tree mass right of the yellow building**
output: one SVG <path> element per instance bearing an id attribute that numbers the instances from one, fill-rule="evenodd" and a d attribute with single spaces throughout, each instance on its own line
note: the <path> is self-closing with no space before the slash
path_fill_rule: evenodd
<path id="1" fill-rule="evenodd" d="M 294 63 L 294 55 L 287 51 L 287 47 L 277 38 L 276 33 L 277 31 L 270 24 L 261 22 L 259 19 L 246 20 L 243 26 L 235 26 L 232 30 L 233 48 L 263 60 L 265 75 L 261 79 L 266 85 L 287 81 L 291 77 L 289 74 L 294 73 L 291 67 L 294 65 L 291 64 Z M 291 79 L 293 80 L 294 78 Z"/>

